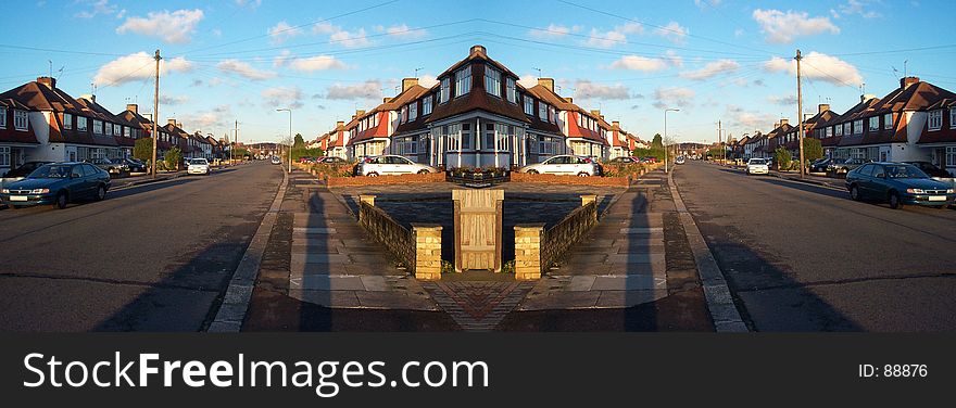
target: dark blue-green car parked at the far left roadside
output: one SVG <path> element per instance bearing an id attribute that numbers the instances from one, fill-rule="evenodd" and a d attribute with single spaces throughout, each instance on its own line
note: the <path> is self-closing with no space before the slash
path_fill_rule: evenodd
<path id="1" fill-rule="evenodd" d="M 106 170 L 89 163 L 46 164 L 0 189 L 0 203 L 12 208 L 43 204 L 65 208 L 80 199 L 103 200 L 111 183 Z"/>

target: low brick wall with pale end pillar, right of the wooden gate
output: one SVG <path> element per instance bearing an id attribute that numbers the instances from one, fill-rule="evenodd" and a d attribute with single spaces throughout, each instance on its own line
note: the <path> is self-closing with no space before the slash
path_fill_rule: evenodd
<path id="1" fill-rule="evenodd" d="M 543 224 L 515 226 L 515 279 L 540 279 L 598 225 L 598 196 L 581 195 L 581 207 L 545 230 Z"/>

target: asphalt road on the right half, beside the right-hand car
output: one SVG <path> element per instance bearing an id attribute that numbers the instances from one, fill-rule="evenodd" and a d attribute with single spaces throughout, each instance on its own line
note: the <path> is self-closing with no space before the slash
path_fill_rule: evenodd
<path id="1" fill-rule="evenodd" d="M 702 162 L 674 177 L 752 329 L 956 330 L 956 211 Z"/>

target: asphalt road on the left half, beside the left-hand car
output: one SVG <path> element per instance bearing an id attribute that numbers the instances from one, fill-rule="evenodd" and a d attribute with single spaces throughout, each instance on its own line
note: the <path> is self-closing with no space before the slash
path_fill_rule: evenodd
<path id="1" fill-rule="evenodd" d="M 0 209 L 0 330 L 203 329 L 281 179 L 257 162 Z"/>

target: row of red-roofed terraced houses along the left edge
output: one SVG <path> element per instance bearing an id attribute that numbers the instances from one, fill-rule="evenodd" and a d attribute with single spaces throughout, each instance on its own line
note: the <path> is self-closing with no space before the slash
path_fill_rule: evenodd
<path id="1" fill-rule="evenodd" d="M 96 95 L 75 99 L 56 88 L 55 78 L 39 77 L 0 93 L 0 176 L 29 161 L 130 157 L 136 140 L 152 137 L 153 128 L 136 104 L 114 115 L 97 103 Z M 176 119 L 168 119 L 159 133 L 160 157 L 173 146 L 186 157 L 228 154 L 225 140 L 187 132 Z"/>

